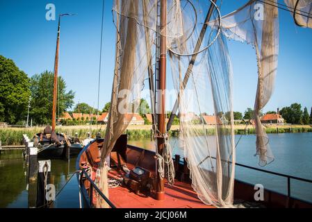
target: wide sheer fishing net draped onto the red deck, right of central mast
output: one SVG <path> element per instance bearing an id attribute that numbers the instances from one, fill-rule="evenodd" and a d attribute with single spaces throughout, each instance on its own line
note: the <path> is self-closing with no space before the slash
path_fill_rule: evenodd
<path id="1" fill-rule="evenodd" d="M 220 24 L 216 22 L 215 28 L 203 24 L 210 2 L 192 2 L 196 10 L 181 1 L 185 33 L 168 42 L 179 99 L 179 144 L 199 198 L 207 205 L 231 207 L 236 157 L 231 63 L 227 42 L 222 33 L 218 35 Z M 211 19 L 217 18 L 220 15 L 213 10 Z M 208 115 L 214 120 L 212 125 L 204 120 Z"/>

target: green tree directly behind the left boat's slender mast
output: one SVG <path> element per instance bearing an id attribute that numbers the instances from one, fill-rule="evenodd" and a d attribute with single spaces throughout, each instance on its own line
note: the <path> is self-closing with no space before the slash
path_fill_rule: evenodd
<path id="1" fill-rule="evenodd" d="M 50 124 L 53 108 L 54 74 L 44 71 L 31 77 L 31 116 L 36 124 Z M 66 90 L 66 83 L 62 77 L 58 77 L 58 101 L 56 103 L 56 116 L 74 104 L 74 92 Z"/>

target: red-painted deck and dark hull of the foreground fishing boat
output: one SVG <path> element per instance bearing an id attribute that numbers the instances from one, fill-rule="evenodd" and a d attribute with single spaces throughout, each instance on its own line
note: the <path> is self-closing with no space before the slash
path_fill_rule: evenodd
<path id="1" fill-rule="evenodd" d="M 97 198 L 104 197 L 97 186 L 97 171 L 99 169 L 99 148 L 104 139 L 95 139 L 85 146 L 76 159 L 76 171 L 81 193 L 81 207 L 96 207 Z M 126 144 L 126 135 L 122 135 L 110 154 L 110 170 L 108 180 L 111 183 L 108 201 L 110 207 L 117 208 L 215 208 L 205 205 L 192 188 L 190 170 L 187 162 L 179 155 L 174 157 L 175 182 L 170 186 L 165 182 L 165 200 L 156 200 L 156 153 L 144 148 Z M 254 169 L 243 164 L 240 167 Z M 261 171 L 260 169 L 254 169 Z M 275 176 L 279 173 L 271 173 Z M 287 177 L 287 176 L 286 176 Z M 292 178 L 305 181 L 302 178 Z M 306 181 L 309 182 L 309 181 Z M 310 181 L 312 182 L 312 181 Z M 299 200 L 270 189 L 263 191 L 264 199 L 256 201 L 255 185 L 235 180 L 234 206 L 235 207 L 293 207 L 312 208 L 312 203 Z"/>

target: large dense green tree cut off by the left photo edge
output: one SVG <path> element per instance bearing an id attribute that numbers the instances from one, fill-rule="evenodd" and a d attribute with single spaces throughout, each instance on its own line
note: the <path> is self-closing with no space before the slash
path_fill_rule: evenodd
<path id="1" fill-rule="evenodd" d="M 0 121 L 15 124 L 26 120 L 30 83 L 13 60 L 0 56 Z"/>

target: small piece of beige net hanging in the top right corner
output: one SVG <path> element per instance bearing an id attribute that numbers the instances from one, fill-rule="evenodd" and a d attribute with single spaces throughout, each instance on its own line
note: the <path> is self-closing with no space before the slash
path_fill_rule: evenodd
<path id="1" fill-rule="evenodd" d="M 312 0 L 284 0 L 297 26 L 312 28 Z"/>

